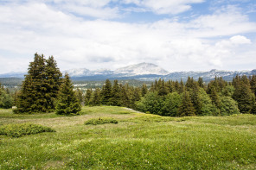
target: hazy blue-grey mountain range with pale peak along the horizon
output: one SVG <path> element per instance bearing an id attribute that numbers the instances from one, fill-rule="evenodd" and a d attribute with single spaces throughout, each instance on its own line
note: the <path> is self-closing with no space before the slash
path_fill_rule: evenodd
<path id="1" fill-rule="evenodd" d="M 74 80 L 105 80 L 105 79 L 138 79 L 138 80 L 155 80 L 155 79 L 173 79 L 173 80 L 186 80 L 189 76 L 194 79 L 202 77 L 204 81 L 214 79 L 215 76 L 222 77 L 230 81 L 235 75 L 250 76 L 256 74 L 256 69 L 252 71 L 220 71 L 211 70 L 208 72 L 168 72 L 151 63 L 139 63 L 137 65 L 125 66 L 116 70 L 100 69 L 88 70 L 86 68 L 75 68 L 66 70 L 70 77 Z M 63 73 L 64 73 L 63 72 Z M 23 78 L 24 72 L 9 72 L 0 74 L 0 78 Z"/>

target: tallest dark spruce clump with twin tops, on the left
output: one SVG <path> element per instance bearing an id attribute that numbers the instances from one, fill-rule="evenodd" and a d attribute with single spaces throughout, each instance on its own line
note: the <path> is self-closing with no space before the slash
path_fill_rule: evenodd
<path id="1" fill-rule="evenodd" d="M 30 62 L 28 74 L 17 96 L 16 113 L 48 112 L 54 110 L 54 101 L 61 85 L 61 72 L 53 57 L 48 60 L 35 54 Z"/>

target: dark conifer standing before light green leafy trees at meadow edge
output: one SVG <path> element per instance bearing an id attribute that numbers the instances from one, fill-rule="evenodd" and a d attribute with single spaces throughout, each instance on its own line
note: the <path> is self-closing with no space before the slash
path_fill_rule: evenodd
<path id="1" fill-rule="evenodd" d="M 178 108 L 177 116 L 195 116 L 195 108 L 189 97 L 189 92 L 184 91 L 182 96 L 182 103 Z"/>

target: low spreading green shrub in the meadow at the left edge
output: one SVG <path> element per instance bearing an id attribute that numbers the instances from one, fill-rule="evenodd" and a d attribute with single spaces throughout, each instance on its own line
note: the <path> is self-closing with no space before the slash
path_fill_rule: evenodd
<path id="1" fill-rule="evenodd" d="M 20 137 L 22 135 L 32 135 L 42 132 L 55 132 L 54 129 L 31 123 L 8 124 L 0 127 L 0 135 Z"/>

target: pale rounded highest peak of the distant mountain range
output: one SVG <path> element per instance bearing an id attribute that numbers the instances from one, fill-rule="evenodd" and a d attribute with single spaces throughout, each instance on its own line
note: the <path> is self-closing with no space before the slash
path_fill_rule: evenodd
<path id="1" fill-rule="evenodd" d="M 151 63 L 139 63 L 137 65 L 125 66 L 118 68 L 115 72 L 119 73 L 130 73 L 134 75 L 143 75 L 143 74 L 157 74 L 157 75 L 166 75 L 170 72 L 163 70 L 160 66 L 151 64 Z"/>

